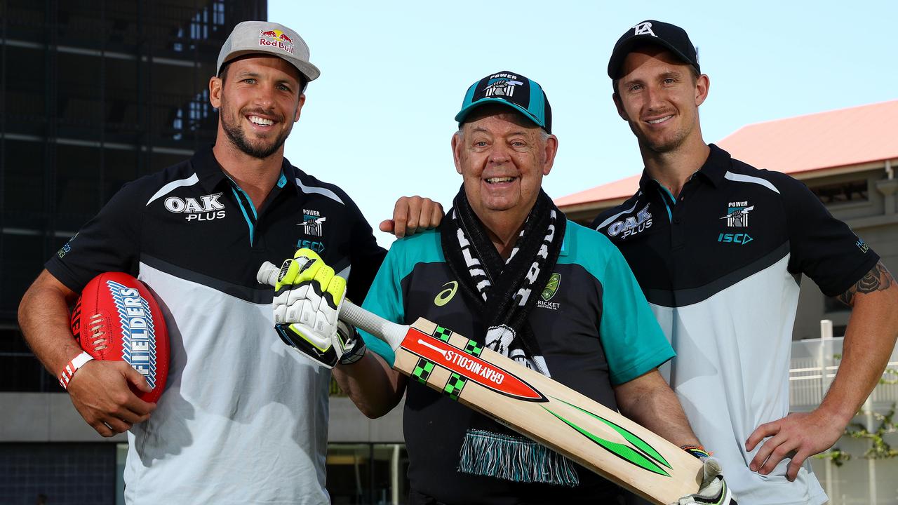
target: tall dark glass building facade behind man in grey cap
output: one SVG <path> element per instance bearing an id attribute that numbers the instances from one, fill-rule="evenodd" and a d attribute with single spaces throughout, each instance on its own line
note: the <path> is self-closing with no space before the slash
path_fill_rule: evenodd
<path id="1" fill-rule="evenodd" d="M 215 137 L 207 84 L 265 1 L 0 2 L 0 390 L 58 391 L 18 334 L 44 261 L 125 182 Z"/>

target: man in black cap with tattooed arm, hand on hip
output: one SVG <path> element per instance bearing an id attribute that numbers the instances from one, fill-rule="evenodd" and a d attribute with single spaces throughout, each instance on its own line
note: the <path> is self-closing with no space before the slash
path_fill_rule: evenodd
<path id="1" fill-rule="evenodd" d="M 839 439 L 881 377 L 898 334 L 894 279 L 804 184 L 705 143 L 709 78 L 682 28 L 630 28 L 608 75 L 645 171 L 637 194 L 593 227 L 621 249 L 674 344 L 663 370 L 740 500 L 819 505 L 806 458 Z M 802 273 L 854 314 L 823 403 L 787 417 Z"/>

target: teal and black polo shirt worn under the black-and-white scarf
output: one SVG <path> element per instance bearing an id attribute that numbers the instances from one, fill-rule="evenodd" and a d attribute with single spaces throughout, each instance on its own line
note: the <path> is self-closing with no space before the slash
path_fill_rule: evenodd
<path id="1" fill-rule="evenodd" d="M 616 409 L 612 386 L 658 367 L 674 351 L 627 262 L 603 235 L 568 221 L 553 273 L 530 315 L 551 376 Z M 445 262 L 439 231 L 427 231 L 392 245 L 364 306 L 396 323 L 425 317 L 483 343 L 486 322 L 457 289 L 458 281 Z M 392 350 L 362 334 L 368 347 L 392 364 Z M 480 414 L 409 381 L 403 428 L 414 492 L 445 503 L 497 504 L 595 502 L 603 493 L 618 492 L 582 467 L 576 488 L 459 473 L 459 450 L 475 416 Z"/>

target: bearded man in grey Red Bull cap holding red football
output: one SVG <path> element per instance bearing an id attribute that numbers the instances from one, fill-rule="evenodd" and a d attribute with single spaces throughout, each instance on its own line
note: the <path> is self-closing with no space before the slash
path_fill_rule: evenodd
<path id="1" fill-rule="evenodd" d="M 81 352 L 67 306 L 99 273 L 138 277 L 163 307 L 171 360 L 158 403 L 131 392 L 147 385 L 124 361 L 88 361 L 67 388 L 99 434 L 128 430 L 128 503 L 330 501 L 330 373 L 277 339 L 271 290 L 255 275 L 260 262 L 308 247 L 361 299 L 383 261 L 348 195 L 284 158 L 318 75 L 295 31 L 238 24 L 209 80 L 215 146 L 119 190 L 22 298 L 22 332 L 54 374 Z M 401 199 L 396 231 L 441 214 L 429 200 Z"/>

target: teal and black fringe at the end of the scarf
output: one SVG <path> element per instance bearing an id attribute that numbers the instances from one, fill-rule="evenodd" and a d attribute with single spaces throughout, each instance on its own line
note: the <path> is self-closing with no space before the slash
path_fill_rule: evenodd
<path id="1" fill-rule="evenodd" d="M 485 430 L 468 430 L 458 471 L 515 483 L 580 483 L 574 462 L 530 439 Z"/>

